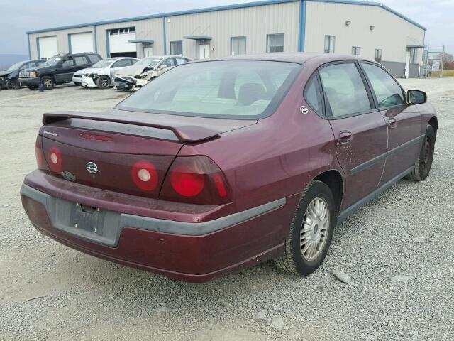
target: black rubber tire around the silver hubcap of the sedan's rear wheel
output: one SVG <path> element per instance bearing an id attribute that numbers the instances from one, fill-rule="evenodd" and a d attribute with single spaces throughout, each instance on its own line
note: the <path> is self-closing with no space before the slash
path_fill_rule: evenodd
<path id="1" fill-rule="evenodd" d="M 319 246 L 319 253 L 314 259 L 308 259 L 308 256 L 303 254 L 304 247 L 301 247 L 301 236 L 304 233 L 302 232 L 302 228 L 304 222 L 309 221 L 306 220 L 306 210 L 308 210 L 309 205 L 314 202 L 314 200 L 320 199 L 324 200 L 324 203 L 328 207 L 328 212 L 326 212 L 326 217 L 328 217 L 328 228 L 325 232 L 326 237 L 323 244 L 319 245 L 320 242 L 317 243 Z M 308 226 L 308 232 L 306 233 L 313 236 L 319 232 L 319 229 L 322 231 L 322 228 L 318 227 L 318 224 L 319 222 L 314 222 L 314 226 L 310 228 L 309 225 L 306 225 Z M 334 227 L 336 227 L 336 205 L 334 204 L 333 193 L 326 183 L 313 180 L 307 185 L 299 200 L 297 211 L 295 212 L 289 233 L 287 234 L 287 239 L 285 240 L 284 254 L 275 259 L 275 266 L 277 266 L 277 269 L 299 276 L 309 275 L 316 271 L 328 253 L 331 239 L 333 238 Z"/>

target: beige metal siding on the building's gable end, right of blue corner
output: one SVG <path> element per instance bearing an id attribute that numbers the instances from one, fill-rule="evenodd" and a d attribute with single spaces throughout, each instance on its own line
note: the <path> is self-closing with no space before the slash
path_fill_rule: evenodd
<path id="1" fill-rule="evenodd" d="M 406 45 L 423 45 L 424 40 L 422 28 L 386 9 L 307 1 L 304 50 L 323 52 L 325 35 L 336 36 L 335 53 L 350 54 L 352 46 L 360 46 L 362 57 L 374 59 L 375 49 L 381 49 L 382 60 L 399 63 L 405 63 Z"/>

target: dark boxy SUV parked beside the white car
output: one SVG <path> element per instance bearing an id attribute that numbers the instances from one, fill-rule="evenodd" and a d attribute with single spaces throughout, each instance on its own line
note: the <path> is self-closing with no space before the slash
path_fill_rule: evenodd
<path id="1" fill-rule="evenodd" d="M 78 70 L 92 66 L 101 60 L 96 53 L 67 53 L 49 58 L 39 67 L 21 71 L 19 81 L 28 89 L 36 89 L 42 82 L 46 89 L 72 81 L 72 75 Z"/>

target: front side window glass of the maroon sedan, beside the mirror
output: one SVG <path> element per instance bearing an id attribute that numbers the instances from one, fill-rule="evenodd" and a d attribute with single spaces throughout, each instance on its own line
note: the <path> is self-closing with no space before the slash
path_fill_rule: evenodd
<path id="1" fill-rule="evenodd" d="M 361 66 L 369 78 L 379 108 L 405 104 L 402 88 L 386 71 L 372 64 L 361 63 Z"/>

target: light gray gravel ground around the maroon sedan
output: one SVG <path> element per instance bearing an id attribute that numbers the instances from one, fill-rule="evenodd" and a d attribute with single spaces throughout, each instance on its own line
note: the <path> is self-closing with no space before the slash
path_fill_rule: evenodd
<path id="1" fill-rule="evenodd" d="M 201 285 L 57 244 L 21 207 L 41 114 L 106 109 L 124 94 L 0 91 L 0 340 L 454 340 L 454 79 L 402 84 L 438 110 L 429 178 L 400 181 L 338 226 L 311 276 L 267 262 Z"/>

